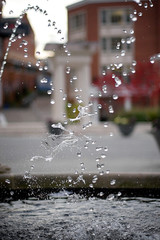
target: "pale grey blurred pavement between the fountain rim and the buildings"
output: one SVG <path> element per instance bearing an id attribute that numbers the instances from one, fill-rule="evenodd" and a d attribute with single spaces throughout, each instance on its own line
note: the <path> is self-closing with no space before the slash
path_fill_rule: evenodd
<path id="1" fill-rule="evenodd" d="M 160 172 L 160 149 L 151 124 L 137 124 L 129 137 L 112 123 L 93 124 L 86 130 L 70 125 L 68 132 L 53 137 L 47 129 L 49 118 L 48 97 L 27 109 L 1 111 L 0 164 L 9 166 L 13 174 Z"/>

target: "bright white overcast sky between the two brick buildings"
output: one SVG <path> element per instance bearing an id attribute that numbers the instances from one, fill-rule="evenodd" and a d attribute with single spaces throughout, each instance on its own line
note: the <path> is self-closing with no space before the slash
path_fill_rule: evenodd
<path id="1" fill-rule="evenodd" d="M 43 10 L 46 10 L 48 16 L 37 13 L 35 11 L 28 12 L 28 17 L 36 36 L 37 49 L 41 50 L 47 42 L 57 42 L 64 37 L 67 41 L 67 11 L 66 6 L 80 0 L 6 0 L 3 7 L 4 17 L 18 17 L 21 12 L 31 4 L 38 5 Z M 48 27 L 48 20 L 56 22 L 57 30 L 53 27 Z M 58 30 L 61 34 L 57 34 Z"/>

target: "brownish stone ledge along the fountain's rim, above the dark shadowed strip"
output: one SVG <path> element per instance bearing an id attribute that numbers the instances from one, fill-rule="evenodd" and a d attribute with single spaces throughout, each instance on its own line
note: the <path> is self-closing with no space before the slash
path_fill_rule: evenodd
<path id="1" fill-rule="evenodd" d="M 97 181 L 95 180 L 98 177 Z M 93 183 L 93 179 L 95 183 Z M 159 188 L 160 174 L 55 174 L 35 175 L 0 175 L 0 189 L 36 189 L 36 188 Z"/>

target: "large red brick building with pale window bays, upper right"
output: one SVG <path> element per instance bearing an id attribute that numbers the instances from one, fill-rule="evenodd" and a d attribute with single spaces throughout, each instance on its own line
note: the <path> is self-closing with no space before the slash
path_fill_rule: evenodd
<path id="1" fill-rule="evenodd" d="M 160 52 L 160 2 L 152 2 L 85 0 L 68 6 L 68 40 L 98 43 L 93 79 L 121 64 L 130 72 L 133 61 L 147 62 Z"/>

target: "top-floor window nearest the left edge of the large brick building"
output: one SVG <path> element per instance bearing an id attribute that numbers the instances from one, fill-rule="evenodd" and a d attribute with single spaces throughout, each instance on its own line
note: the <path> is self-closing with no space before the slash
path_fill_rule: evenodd
<path id="1" fill-rule="evenodd" d="M 84 13 L 76 14 L 70 18 L 70 26 L 72 30 L 83 28 L 85 26 L 85 23 L 86 20 Z"/>

